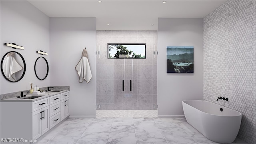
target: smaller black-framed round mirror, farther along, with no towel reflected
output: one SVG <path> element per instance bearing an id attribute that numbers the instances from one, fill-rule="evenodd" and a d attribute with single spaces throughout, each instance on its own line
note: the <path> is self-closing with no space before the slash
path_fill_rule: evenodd
<path id="1" fill-rule="evenodd" d="M 49 65 L 44 57 L 39 57 L 35 62 L 35 74 L 39 80 L 46 79 L 49 72 Z"/>

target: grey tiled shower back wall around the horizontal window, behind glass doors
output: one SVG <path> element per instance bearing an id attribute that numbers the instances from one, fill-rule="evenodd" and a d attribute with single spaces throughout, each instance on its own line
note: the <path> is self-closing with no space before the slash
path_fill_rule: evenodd
<path id="1" fill-rule="evenodd" d="M 96 32 L 97 110 L 157 109 L 157 37 L 157 31 Z M 108 43 L 146 43 L 146 59 L 108 59 Z"/>

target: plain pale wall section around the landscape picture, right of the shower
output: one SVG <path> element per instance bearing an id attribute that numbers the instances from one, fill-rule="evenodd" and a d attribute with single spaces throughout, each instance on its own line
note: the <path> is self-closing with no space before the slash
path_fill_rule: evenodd
<path id="1" fill-rule="evenodd" d="M 166 73 L 166 46 L 194 46 L 194 73 Z M 184 115 L 183 100 L 203 100 L 203 18 L 159 18 L 158 52 L 158 115 Z"/>

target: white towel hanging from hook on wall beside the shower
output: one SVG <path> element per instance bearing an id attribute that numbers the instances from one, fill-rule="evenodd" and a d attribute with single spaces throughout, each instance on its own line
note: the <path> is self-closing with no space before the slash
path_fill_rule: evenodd
<path id="1" fill-rule="evenodd" d="M 82 83 L 84 80 L 88 83 L 90 82 L 92 78 L 92 72 L 90 68 L 90 64 L 87 58 L 87 51 L 84 49 L 82 52 L 82 58 L 76 65 L 76 68 L 78 76 L 79 76 L 79 82 Z"/>

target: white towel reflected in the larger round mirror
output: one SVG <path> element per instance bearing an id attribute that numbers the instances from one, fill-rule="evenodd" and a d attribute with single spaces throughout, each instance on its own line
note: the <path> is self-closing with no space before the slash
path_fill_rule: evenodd
<path id="1" fill-rule="evenodd" d="M 7 58 L 4 61 L 3 71 L 6 78 L 11 81 L 16 81 L 15 73 L 22 70 L 22 66 L 14 58 L 15 52 L 10 52 L 7 54 Z"/>

